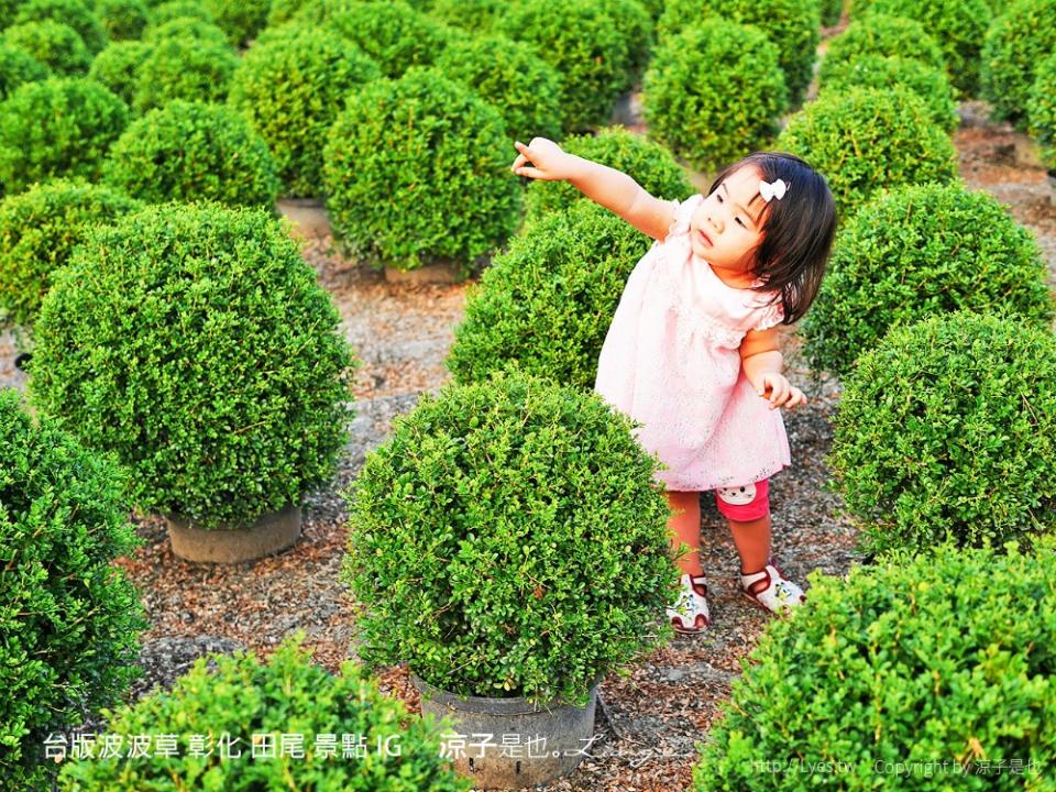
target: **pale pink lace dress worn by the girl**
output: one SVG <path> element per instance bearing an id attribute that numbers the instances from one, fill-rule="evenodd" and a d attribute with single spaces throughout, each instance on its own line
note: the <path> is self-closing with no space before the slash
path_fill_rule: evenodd
<path id="1" fill-rule="evenodd" d="M 673 491 L 740 486 L 791 463 L 781 410 L 745 377 L 741 339 L 782 318 L 772 293 L 723 283 L 690 248 L 703 200 L 675 207 L 663 242 L 631 272 L 597 362 L 594 389 L 634 420 L 638 442 L 667 469 Z"/>

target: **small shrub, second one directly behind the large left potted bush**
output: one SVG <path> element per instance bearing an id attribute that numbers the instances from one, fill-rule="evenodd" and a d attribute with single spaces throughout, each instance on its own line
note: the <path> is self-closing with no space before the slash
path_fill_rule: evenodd
<path id="1" fill-rule="evenodd" d="M 238 64 L 227 42 L 190 36 L 154 41 L 140 66 L 134 108 L 142 113 L 175 99 L 223 102 Z"/>

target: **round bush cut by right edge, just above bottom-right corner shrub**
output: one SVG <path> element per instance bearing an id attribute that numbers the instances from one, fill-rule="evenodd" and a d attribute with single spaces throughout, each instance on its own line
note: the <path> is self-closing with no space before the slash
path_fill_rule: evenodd
<path id="1" fill-rule="evenodd" d="M 894 328 L 846 382 L 829 464 L 869 552 L 1050 531 L 1056 337 L 969 312 Z"/>

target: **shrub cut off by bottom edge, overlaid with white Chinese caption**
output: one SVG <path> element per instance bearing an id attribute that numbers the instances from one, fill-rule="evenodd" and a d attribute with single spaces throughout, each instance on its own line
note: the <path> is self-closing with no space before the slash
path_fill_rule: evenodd
<path id="1" fill-rule="evenodd" d="M 302 642 L 304 632 L 287 638 L 267 664 L 251 651 L 200 658 L 172 691 L 108 711 L 108 730 L 97 736 L 96 752 L 107 738 L 130 745 L 135 735 L 172 734 L 178 740 L 176 756 L 151 751 L 130 759 L 123 751 L 118 758 L 69 760 L 59 789 L 469 791 L 469 780 L 457 776 L 441 754 L 449 724 L 409 714 L 351 660 L 341 664 L 339 675 L 327 673 L 312 664 Z M 218 747 L 209 756 L 193 757 L 190 734 L 215 735 L 218 744 L 227 734 L 231 751 L 224 756 Z M 349 758 L 341 740 L 353 734 L 363 739 L 365 754 Z M 275 750 L 270 758 L 251 755 L 260 749 L 252 744 L 254 735 L 268 735 L 276 749 L 283 735 L 298 735 L 302 756 L 293 750 Z"/>

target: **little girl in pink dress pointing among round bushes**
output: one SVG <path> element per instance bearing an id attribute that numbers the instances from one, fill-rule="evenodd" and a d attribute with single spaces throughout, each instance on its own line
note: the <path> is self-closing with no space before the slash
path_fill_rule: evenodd
<path id="1" fill-rule="evenodd" d="M 770 557 L 767 480 L 790 464 L 779 407 L 805 404 L 781 374 L 779 323 L 802 317 L 821 285 L 836 229 L 825 179 L 799 157 L 756 153 L 707 196 L 660 200 L 619 170 L 536 138 L 513 172 L 566 180 L 654 240 L 624 287 L 594 389 L 644 426 L 641 446 L 667 470 L 669 526 L 682 595 L 674 628 L 711 624 L 701 570 L 700 494 L 714 490 L 740 554 L 741 591 L 771 612 L 802 590 Z"/>

